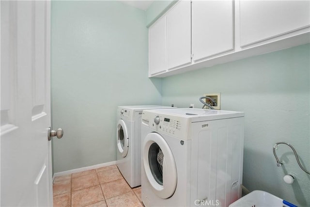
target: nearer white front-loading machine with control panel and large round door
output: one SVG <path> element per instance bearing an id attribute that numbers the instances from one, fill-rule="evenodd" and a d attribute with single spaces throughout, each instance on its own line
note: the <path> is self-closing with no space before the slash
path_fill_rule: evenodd
<path id="1" fill-rule="evenodd" d="M 244 112 L 143 111 L 143 204 L 228 207 L 241 197 L 243 139 Z"/>

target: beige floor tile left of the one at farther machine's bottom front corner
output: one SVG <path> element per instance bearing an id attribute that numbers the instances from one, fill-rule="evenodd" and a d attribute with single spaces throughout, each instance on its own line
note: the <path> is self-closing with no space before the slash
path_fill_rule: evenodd
<path id="1" fill-rule="evenodd" d="M 104 197 L 100 185 L 73 191 L 71 193 L 71 205 L 73 207 L 83 207 L 103 200 Z"/>

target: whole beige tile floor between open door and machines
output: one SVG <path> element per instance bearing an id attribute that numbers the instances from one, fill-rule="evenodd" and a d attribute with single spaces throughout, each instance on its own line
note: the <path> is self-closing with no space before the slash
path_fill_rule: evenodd
<path id="1" fill-rule="evenodd" d="M 54 207 L 143 207 L 141 187 L 130 188 L 116 165 L 57 176 Z"/>

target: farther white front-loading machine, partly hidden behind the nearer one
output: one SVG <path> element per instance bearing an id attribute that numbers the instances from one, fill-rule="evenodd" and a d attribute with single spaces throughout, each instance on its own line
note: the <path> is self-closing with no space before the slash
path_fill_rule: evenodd
<path id="1" fill-rule="evenodd" d="M 130 187 L 141 185 L 141 116 L 144 109 L 167 106 L 119 106 L 117 108 L 117 167 Z"/>

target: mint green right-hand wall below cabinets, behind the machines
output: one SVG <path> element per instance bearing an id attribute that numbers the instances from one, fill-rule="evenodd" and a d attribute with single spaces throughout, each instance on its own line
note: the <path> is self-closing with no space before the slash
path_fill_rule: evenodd
<path id="1" fill-rule="evenodd" d="M 303 45 L 162 79 L 163 104 L 202 107 L 199 97 L 221 93 L 221 110 L 245 111 L 243 184 L 273 193 L 297 206 L 310 206 L 310 46 Z M 283 176 L 297 174 L 293 185 Z"/>

